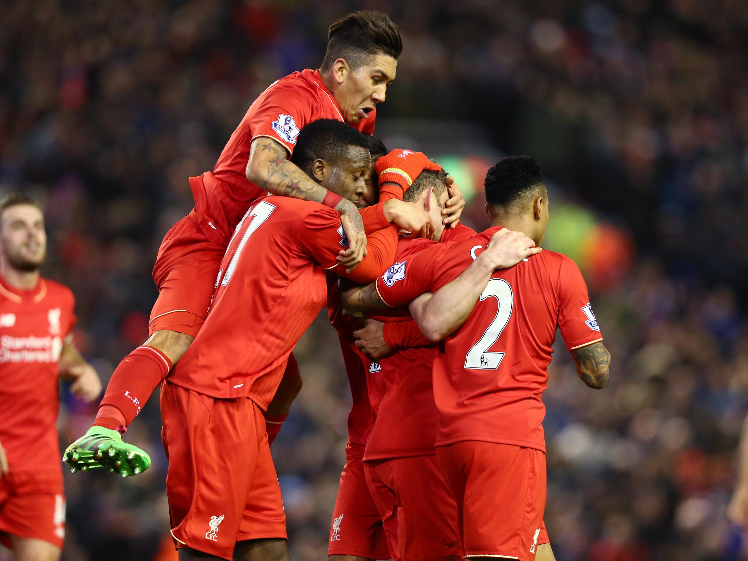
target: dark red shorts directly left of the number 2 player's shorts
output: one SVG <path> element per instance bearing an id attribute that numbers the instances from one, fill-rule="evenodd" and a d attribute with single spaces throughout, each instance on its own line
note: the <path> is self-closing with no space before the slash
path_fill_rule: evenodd
<path id="1" fill-rule="evenodd" d="M 457 503 L 435 455 L 364 465 L 393 561 L 462 559 Z"/>

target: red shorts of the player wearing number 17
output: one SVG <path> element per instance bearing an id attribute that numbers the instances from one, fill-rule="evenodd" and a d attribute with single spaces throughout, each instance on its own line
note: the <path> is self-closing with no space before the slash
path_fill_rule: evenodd
<path id="1" fill-rule="evenodd" d="M 254 401 L 215 399 L 165 382 L 161 418 L 177 549 L 230 560 L 236 542 L 286 538 L 265 417 Z"/>

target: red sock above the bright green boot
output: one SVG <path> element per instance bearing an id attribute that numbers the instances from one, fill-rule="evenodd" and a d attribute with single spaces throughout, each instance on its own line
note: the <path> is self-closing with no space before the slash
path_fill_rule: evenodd
<path id="1" fill-rule="evenodd" d="M 171 367 L 169 358 L 156 347 L 139 346 L 122 359 L 111 375 L 93 424 L 123 432 Z"/>

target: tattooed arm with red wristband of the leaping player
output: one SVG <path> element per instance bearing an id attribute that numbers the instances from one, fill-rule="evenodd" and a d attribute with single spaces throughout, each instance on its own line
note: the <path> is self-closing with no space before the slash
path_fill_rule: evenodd
<path id="1" fill-rule="evenodd" d="M 288 157 L 288 151 L 282 144 L 268 136 L 258 136 L 252 141 L 247 162 L 247 179 L 273 194 L 322 203 L 328 190 L 304 174 Z M 350 247 L 360 252 L 363 259 L 367 236 L 361 214 L 355 204 L 347 199 L 337 203 L 335 210 L 349 219 L 347 224 L 344 221 L 343 227 L 351 242 Z"/>

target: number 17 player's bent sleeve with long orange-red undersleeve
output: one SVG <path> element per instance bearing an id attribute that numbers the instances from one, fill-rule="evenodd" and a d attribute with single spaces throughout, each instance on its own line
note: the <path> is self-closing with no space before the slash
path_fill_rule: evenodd
<path id="1" fill-rule="evenodd" d="M 357 283 L 372 282 L 395 259 L 398 230 L 396 226 L 378 230 L 367 238 L 367 257 L 352 272 L 346 273 L 337 256 L 348 248 L 348 236 L 343 230 L 340 215 L 333 209 L 319 209 L 308 213 L 301 221 L 298 240 L 304 251 L 325 269 Z M 337 269 L 335 269 L 337 267 Z M 340 269 L 340 270 L 339 270 Z"/>

